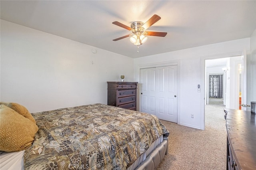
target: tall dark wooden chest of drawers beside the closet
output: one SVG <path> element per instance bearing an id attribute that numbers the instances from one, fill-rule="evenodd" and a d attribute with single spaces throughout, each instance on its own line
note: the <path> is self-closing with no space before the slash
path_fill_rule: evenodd
<path id="1" fill-rule="evenodd" d="M 137 110 L 138 82 L 108 81 L 108 105 Z"/>

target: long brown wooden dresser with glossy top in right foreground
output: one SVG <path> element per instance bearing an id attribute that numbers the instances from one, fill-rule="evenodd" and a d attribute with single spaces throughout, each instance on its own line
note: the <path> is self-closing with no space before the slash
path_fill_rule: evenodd
<path id="1" fill-rule="evenodd" d="M 227 127 L 227 170 L 256 170 L 256 115 L 224 109 Z"/>

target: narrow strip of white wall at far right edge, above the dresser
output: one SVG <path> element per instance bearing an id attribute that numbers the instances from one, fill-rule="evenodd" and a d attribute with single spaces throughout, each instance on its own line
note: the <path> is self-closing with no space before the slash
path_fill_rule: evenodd
<path id="1" fill-rule="evenodd" d="M 251 100 L 256 101 L 256 30 L 254 30 L 250 39 L 251 51 Z M 247 103 L 250 103 L 247 102 Z"/>

